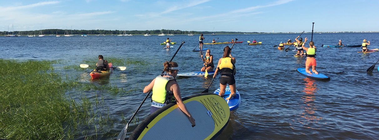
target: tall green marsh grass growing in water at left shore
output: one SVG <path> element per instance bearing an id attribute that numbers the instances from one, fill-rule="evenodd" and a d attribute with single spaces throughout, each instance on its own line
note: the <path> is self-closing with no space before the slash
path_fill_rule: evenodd
<path id="1" fill-rule="evenodd" d="M 66 95 L 78 83 L 62 80 L 55 63 L 0 59 L 0 138 L 74 139 L 83 133 L 78 131 L 113 123 L 108 110 L 94 109 L 97 97 Z"/>

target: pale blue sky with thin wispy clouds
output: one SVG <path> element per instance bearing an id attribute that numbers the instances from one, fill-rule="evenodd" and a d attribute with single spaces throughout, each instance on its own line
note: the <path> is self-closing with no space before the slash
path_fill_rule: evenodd
<path id="1" fill-rule="evenodd" d="M 0 31 L 379 31 L 379 0 L 1 0 Z"/>

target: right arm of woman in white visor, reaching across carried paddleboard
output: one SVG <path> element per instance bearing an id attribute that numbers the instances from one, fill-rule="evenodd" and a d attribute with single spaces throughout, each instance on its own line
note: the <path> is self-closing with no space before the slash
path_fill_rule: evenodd
<path id="1" fill-rule="evenodd" d="M 174 80 L 171 80 L 169 82 L 175 82 Z M 172 83 L 167 83 L 172 84 Z M 182 101 L 182 95 L 180 95 L 180 88 L 178 83 L 172 84 L 170 87 L 170 90 L 174 93 L 176 104 L 178 105 L 179 109 L 183 111 L 183 113 L 188 117 L 189 121 L 191 122 L 192 126 L 195 126 L 195 119 L 192 117 L 191 113 L 189 113 L 186 105 Z"/>

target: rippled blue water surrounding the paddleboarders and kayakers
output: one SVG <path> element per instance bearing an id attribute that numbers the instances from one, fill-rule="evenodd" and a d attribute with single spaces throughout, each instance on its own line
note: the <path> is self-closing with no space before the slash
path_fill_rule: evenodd
<path id="1" fill-rule="evenodd" d="M 321 48 L 321 44 L 335 45 L 362 44 L 370 40 L 370 49 L 379 48 L 378 33 L 313 34 L 317 50 L 319 73 L 330 76 L 330 81 L 305 78 L 296 69 L 305 67 L 305 59 L 293 57 L 294 52 L 277 50 L 273 45 L 280 41 L 294 40 L 299 34 L 249 34 L 249 35 L 205 35 L 204 42 L 217 39 L 218 42 L 237 38 L 244 41 L 235 44 L 232 55 L 236 58 L 236 88 L 241 93 L 241 106 L 231 112 L 228 126 L 218 139 L 377 139 L 379 136 L 379 72 L 367 73 L 366 69 L 379 59 L 379 52 L 357 53 L 360 48 Z M 102 90 L 85 91 L 92 97 L 97 94 L 109 107 L 114 125 L 97 133 L 98 139 L 114 139 L 125 126 L 122 114 L 127 120 L 139 106 L 146 94 L 144 86 L 150 83 L 163 69 L 163 62 L 169 61 L 180 45 L 186 43 L 173 61 L 179 64 L 181 72 L 199 71 L 202 67 L 199 52 L 192 50 L 198 44 L 198 35 L 170 36 L 177 42 L 174 48 L 162 49 L 159 43 L 168 36 L 88 36 L 88 37 L 0 37 L 3 59 L 61 59 L 67 64 L 79 67 L 83 60 L 96 63 L 97 55 L 107 57 L 144 60 L 147 66 L 128 66 L 125 71 L 114 71 L 109 78 L 90 81 L 86 70 L 61 70 L 78 77 L 83 83 L 96 85 L 113 84 L 119 88 L 135 89 L 129 93 L 109 94 Z M 303 34 L 301 37 L 311 37 Z M 256 39 L 262 45 L 246 45 Z M 231 44 L 228 44 L 231 46 Z M 204 45 L 210 48 L 215 64 L 222 56 L 225 44 Z M 287 48 L 287 47 L 286 47 Z M 293 47 L 292 47 L 293 48 Z M 115 66 L 122 66 L 113 63 Z M 379 64 L 378 64 L 379 65 Z M 182 96 L 189 96 L 205 90 L 211 78 L 177 78 Z M 219 87 L 216 78 L 210 87 L 213 92 Z M 140 121 L 149 115 L 148 99 L 137 117 Z M 195 118 L 196 119 L 196 118 Z M 138 125 L 131 123 L 128 135 Z M 87 135 L 95 135 L 95 132 Z M 78 139 L 84 138 L 79 137 Z"/>

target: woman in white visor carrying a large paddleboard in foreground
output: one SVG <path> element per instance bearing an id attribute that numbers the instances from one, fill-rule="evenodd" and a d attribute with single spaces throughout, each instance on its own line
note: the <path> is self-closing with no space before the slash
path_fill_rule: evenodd
<path id="1" fill-rule="evenodd" d="M 182 95 L 180 95 L 180 88 L 176 82 L 175 77 L 178 75 L 178 64 L 176 62 L 164 62 L 163 71 L 166 74 L 157 76 L 153 79 L 149 85 L 144 89 L 144 93 L 148 93 L 150 90 L 153 90 L 152 103 L 150 107 L 150 114 L 157 111 L 161 107 L 165 106 L 168 103 L 176 102 L 179 109 L 188 117 L 192 126 L 195 126 L 195 120 L 192 115 L 189 113 L 187 107 L 182 102 Z"/>

